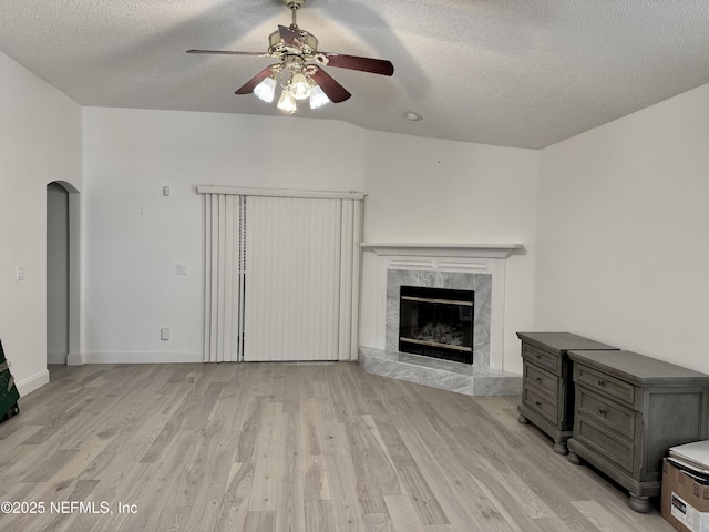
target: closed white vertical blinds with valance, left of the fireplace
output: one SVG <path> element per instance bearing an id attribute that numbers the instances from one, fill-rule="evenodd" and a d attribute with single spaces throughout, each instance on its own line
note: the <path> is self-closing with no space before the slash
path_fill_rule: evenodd
<path id="1" fill-rule="evenodd" d="M 353 360 L 361 194 L 205 194 L 205 361 Z"/>

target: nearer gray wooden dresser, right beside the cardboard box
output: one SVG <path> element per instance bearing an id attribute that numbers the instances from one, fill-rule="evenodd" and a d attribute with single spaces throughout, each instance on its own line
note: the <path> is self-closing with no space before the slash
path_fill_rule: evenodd
<path id="1" fill-rule="evenodd" d="M 633 510 L 648 512 L 668 449 L 707 439 L 709 376 L 631 351 L 568 357 L 576 390 L 568 460 L 586 460 L 629 491 Z"/>

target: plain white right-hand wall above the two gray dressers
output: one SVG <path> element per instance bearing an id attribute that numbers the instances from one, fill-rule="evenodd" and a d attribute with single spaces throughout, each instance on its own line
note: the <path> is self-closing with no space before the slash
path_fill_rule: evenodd
<path id="1" fill-rule="evenodd" d="M 535 328 L 709 372 L 709 85 L 541 154 Z"/>

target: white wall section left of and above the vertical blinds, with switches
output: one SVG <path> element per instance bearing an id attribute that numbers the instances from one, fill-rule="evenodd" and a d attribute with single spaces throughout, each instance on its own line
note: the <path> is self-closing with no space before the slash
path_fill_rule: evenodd
<path id="1" fill-rule="evenodd" d="M 202 360 L 196 185 L 364 186 L 364 132 L 341 122 L 95 108 L 83 115 L 84 361 Z M 187 276 L 175 275 L 177 263 Z"/>

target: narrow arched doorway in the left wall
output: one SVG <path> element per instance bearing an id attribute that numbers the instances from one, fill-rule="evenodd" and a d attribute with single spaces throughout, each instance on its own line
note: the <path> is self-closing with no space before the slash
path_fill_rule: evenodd
<path id="1" fill-rule="evenodd" d="M 47 362 L 81 364 L 79 191 L 47 185 Z"/>

